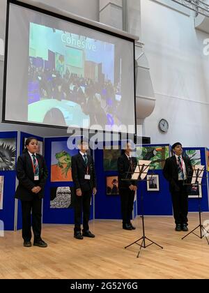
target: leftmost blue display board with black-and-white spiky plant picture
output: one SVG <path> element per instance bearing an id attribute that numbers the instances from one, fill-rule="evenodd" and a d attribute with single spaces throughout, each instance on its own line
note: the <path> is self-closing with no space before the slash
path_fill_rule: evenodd
<path id="1" fill-rule="evenodd" d="M 1 229 L 14 230 L 17 131 L 0 133 L 0 156 L 0 176 L 3 176 L 2 209 L 0 209 Z"/>

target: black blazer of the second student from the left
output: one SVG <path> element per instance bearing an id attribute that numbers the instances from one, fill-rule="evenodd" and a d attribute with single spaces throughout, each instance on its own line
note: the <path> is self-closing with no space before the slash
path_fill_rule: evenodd
<path id="1" fill-rule="evenodd" d="M 84 159 L 81 153 L 78 153 L 75 156 L 72 156 L 71 167 L 72 167 L 72 181 L 75 184 L 75 189 L 81 188 L 82 191 L 91 190 L 94 187 L 96 188 L 96 175 L 95 175 L 95 166 L 93 163 L 93 158 L 87 155 L 88 163 L 84 162 Z M 85 179 L 87 173 L 91 176 L 90 180 Z"/>

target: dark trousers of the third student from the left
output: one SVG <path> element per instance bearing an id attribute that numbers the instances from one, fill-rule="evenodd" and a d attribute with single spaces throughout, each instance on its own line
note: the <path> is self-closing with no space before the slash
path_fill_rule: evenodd
<path id="1" fill-rule="evenodd" d="M 130 188 L 120 188 L 119 193 L 121 195 L 121 213 L 123 224 L 130 224 L 134 206 L 135 191 L 130 190 Z"/>

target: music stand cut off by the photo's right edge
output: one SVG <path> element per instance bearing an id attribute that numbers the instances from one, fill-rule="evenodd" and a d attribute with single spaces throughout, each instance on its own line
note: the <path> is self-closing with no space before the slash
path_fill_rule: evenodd
<path id="1" fill-rule="evenodd" d="M 199 168 L 194 170 L 195 176 L 192 176 L 192 178 L 195 178 L 195 183 L 185 183 L 185 185 L 187 185 L 187 186 L 198 186 L 199 188 L 201 188 L 202 184 L 199 182 L 199 179 L 201 181 L 202 172 L 203 172 L 203 170 L 200 170 Z M 187 233 L 187 235 L 185 235 L 182 238 L 182 240 L 185 239 L 187 236 L 189 236 L 189 234 L 194 234 L 197 237 L 199 237 L 200 239 L 203 239 L 203 237 L 206 235 L 206 233 L 207 234 L 209 233 L 209 231 L 206 230 L 206 228 L 202 225 L 202 222 L 201 222 L 201 201 L 200 201 L 199 194 L 198 194 L 198 203 L 199 203 L 199 225 L 197 225 L 191 232 Z M 197 235 L 196 233 L 194 233 L 194 231 L 196 229 L 198 229 L 198 228 L 200 230 L 200 236 Z M 208 245 L 209 245 L 209 241 L 208 241 L 207 236 L 206 236 L 206 241 L 208 242 Z"/>

